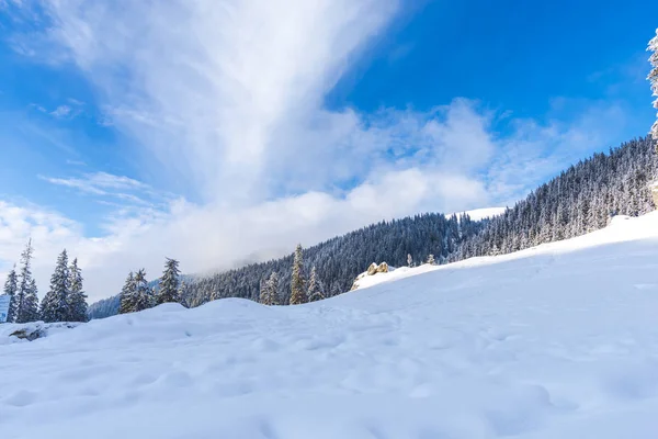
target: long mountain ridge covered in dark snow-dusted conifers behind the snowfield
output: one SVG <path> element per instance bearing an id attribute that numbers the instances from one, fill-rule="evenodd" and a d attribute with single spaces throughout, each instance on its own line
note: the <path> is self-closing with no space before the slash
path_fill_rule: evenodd
<path id="1" fill-rule="evenodd" d="M 658 156 L 651 140 L 634 139 L 569 167 L 511 209 L 416 215 L 318 244 L 304 251 L 307 274 L 315 266 L 324 294 L 333 296 L 350 290 L 354 278 L 372 262 L 401 267 L 407 264 L 408 255 L 419 263 L 432 254 L 438 263 L 445 263 L 579 236 L 604 227 L 614 215 L 637 216 L 653 211 L 651 185 L 657 179 Z M 292 262 L 291 254 L 195 277 L 186 282 L 185 304 L 198 306 L 220 297 L 258 300 L 261 282 L 272 272 L 279 274 L 279 292 L 286 301 Z M 117 309 L 118 299 L 111 297 L 91 305 L 90 316 L 106 317 Z"/>

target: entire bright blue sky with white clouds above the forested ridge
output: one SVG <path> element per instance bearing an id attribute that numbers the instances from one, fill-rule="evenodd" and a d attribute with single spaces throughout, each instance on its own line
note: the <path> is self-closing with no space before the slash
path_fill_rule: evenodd
<path id="1" fill-rule="evenodd" d="M 164 256 L 212 270 L 513 203 L 648 131 L 656 16 L 651 1 L 0 0 L 0 272 L 33 236 L 44 279 L 67 247 L 100 297 Z"/>

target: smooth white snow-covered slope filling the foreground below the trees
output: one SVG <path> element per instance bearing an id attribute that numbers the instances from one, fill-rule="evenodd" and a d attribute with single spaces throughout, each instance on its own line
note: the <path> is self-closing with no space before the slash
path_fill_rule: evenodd
<path id="1" fill-rule="evenodd" d="M 300 306 L 0 345 L 3 438 L 656 438 L 658 213 Z"/>

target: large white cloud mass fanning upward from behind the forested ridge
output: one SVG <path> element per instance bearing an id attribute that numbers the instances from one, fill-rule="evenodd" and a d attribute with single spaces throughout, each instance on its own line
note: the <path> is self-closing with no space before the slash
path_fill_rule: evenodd
<path id="1" fill-rule="evenodd" d="M 394 20 L 396 0 L 45 4 L 50 60 L 76 63 L 112 126 L 158 159 L 154 173 L 188 182 L 180 192 L 202 200 L 105 172 L 44 177 L 116 206 L 95 238 L 60 215 L 5 203 L 4 267 L 31 234 L 44 267 L 66 246 L 92 299 L 116 293 L 128 270 L 157 275 L 164 256 L 188 272 L 227 268 L 383 218 L 511 200 L 574 157 L 571 140 L 601 140 L 587 134 L 600 114 L 575 127 L 513 121 L 500 136 L 496 114 L 464 99 L 428 112 L 325 109 L 341 74 Z M 157 209 L 135 207 L 154 198 Z"/>

